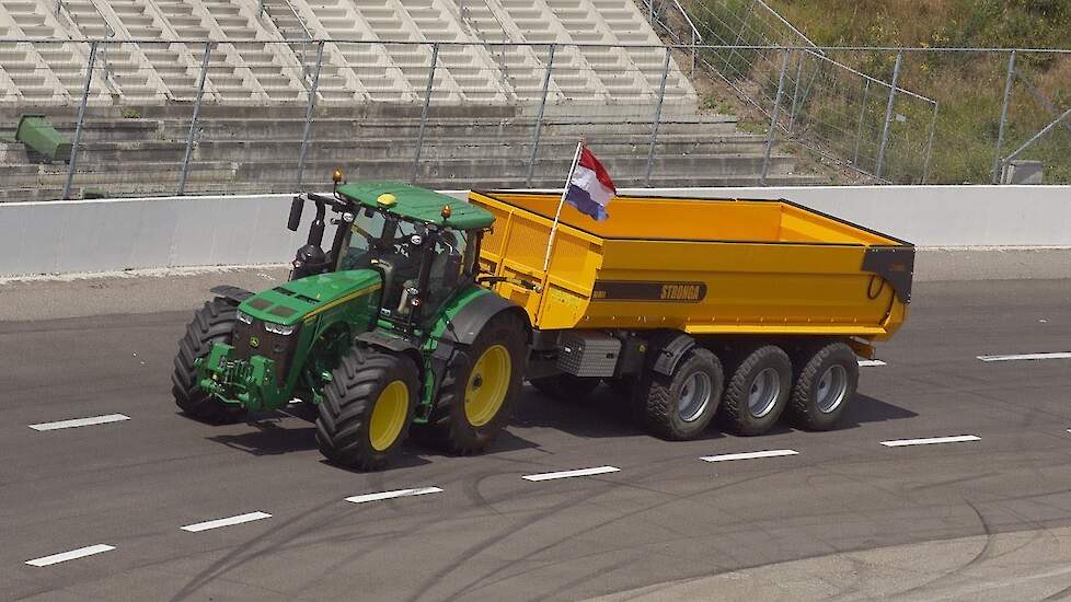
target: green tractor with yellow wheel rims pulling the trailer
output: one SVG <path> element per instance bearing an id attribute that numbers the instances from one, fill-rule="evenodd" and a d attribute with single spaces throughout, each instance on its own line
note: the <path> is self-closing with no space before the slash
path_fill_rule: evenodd
<path id="1" fill-rule="evenodd" d="M 216 287 L 180 341 L 178 407 L 212 424 L 315 406 L 332 463 L 384 467 L 410 433 L 453 453 L 483 450 L 521 386 L 531 324 L 479 278 L 485 209 L 396 183 L 295 197 L 315 219 L 290 280 L 253 293 Z M 336 225 L 323 242 L 327 209 Z"/>

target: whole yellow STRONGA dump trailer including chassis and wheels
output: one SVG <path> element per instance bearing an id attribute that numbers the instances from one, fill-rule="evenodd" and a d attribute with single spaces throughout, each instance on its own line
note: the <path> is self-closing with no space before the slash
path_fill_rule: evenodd
<path id="1" fill-rule="evenodd" d="M 496 218 L 486 281 L 534 327 L 530 381 L 558 397 L 606 381 L 638 395 L 637 415 L 667 438 L 694 436 L 711 405 L 748 435 L 784 409 L 831 428 L 855 390 L 854 354 L 907 317 L 911 244 L 787 200 L 622 196 L 601 222 L 566 205 L 544 270 L 560 195 L 469 199 Z M 677 374 L 684 360 L 703 370 Z M 667 396 L 676 421 L 653 415 Z"/>

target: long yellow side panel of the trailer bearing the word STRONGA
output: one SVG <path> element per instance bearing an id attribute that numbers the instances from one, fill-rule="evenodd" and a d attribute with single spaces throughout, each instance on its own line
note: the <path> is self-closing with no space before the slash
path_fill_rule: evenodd
<path id="1" fill-rule="evenodd" d="M 703 285 L 705 294 L 636 301 L 597 292 L 575 327 L 884 338 L 902 321 L 889 319 L 900 303 L 880 277 L 860 271 L 863 253 L 848 245 L 607 241 L 596 291 L 606 288 L 601 282 L 640 281 L 663 283 L 670 298 L 690 292 L 692 283 Z"/>

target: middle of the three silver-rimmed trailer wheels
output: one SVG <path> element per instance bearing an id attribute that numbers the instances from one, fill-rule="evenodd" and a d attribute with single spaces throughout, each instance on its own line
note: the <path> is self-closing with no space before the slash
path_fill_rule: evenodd
<path id="1" fill-rule="evenodd" d="M 763 345 L 733 370 L 718 410 L 721 422 L 737 435 L 770 430 L 788 403 L 792 361 L 778 346 Z"/>

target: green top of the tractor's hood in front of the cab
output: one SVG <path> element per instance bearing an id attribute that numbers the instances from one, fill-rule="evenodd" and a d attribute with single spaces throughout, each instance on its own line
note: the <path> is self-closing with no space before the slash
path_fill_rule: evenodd
<path id="1" fill-rule="evenodd" d="M 268 289 L 238 309 L 256 320 L 291 326 L 346 301 L 378 291 L 383 280 L 372 269 L 309 276 Z"/>

